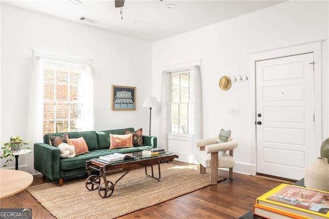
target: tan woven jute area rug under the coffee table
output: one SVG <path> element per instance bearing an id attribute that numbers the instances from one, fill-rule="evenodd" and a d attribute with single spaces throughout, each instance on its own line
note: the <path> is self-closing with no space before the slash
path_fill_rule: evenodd
<path id="1" fill-rule="evenodd" d="M 157 168 L 154 170 L 157 175 Z M 109 174 L 107 180 L 115 182 L 121 174 Z M 218 176 L 218 181 L 225 179 Z M 97 190 L 88 191 L 85 179 L 64 181 L 62 187 L 57 182 L 49 182 L 29 187 L 27 191 L 57 218 L 115 218 L 209 185 L 209 173 L 200 174 L 189 166 L 163 163 L 160 181 L 147 178 L 143 168 L 133 170 L 117 183 L 108 198 L 100 197 Z"/>

